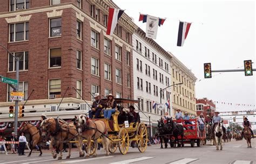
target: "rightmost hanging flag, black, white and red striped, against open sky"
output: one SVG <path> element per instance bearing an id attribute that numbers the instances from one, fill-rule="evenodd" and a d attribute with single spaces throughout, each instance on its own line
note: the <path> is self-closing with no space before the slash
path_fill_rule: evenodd
<path id="1" fill-rule="evenodd" d="M 191 23 L 179 22 L 179 32 L 177 46 L 183 46 L 185 39 L 187 38 L 188 31 L 190 30 Z"/>

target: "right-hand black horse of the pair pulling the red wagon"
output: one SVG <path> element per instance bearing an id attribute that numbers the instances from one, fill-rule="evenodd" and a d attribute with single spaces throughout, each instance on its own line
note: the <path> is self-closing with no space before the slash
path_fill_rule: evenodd
<path id="1" fill-rule="evenodd" d="M 184 129 L 182 125 L 173 122 L 172 118 L 167 118 L 167 123 L 165 124 L 165 130 L 168 131 L 169 134 L 172 134 L 172 135 L 169 135 L 171 147 L 176 147 L 176 143 L 178 144 L 178 147 L 180 147 L 181 145 L 184 146 L 183 144 Z M 181 145 L 179 144 L 179 139 L 178 139 L 179 136 L 181 137 Z M 174 137 L 174 143 L 172 143 L 172 137 Z"/>

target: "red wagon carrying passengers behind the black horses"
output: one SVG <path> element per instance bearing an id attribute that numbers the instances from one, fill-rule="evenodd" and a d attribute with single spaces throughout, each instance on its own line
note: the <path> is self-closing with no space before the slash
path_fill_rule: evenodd
<path id="1" fill-rule="evenodd" d="M 206 141 L 205 125 L 204 125 L 204 130 L 200 131 L 197 118 L 189 119 L 189 120 L 183 120 L 183 119 L 173 120 L 173 122 L 183 125 L 183 129 L 184 129 L 183 143 L 184 144 L 190 144 L 191 147 L 194 147 L 195 142 L 197 143 L 197 146 L 200 146 L 200 144 L 205 145 L 205 141 Z M 187 124 L 188 122 L 190 122 L 191 124 Z M 180 136 L 178 138 L 179 140 L 181 139 Z"/>

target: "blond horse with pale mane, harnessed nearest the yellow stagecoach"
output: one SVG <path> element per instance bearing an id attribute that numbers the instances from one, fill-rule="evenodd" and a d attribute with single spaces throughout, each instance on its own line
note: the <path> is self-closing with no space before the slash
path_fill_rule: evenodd
<path id="1" fill-rule="evenodd" d="M 85 158 L 90 158 L 91 153 L 91 140 L 94 141 L 95 152 L 92 154 L 93 157 L 97 156 L 98 142 L 97 139 L 102 137 L 103 145 L 106 150 L 106 155 L 109 155 L 109 139 L 107 138 L 107 127 L 102 120 L 89 119 L 85 115 L 75 116 L 74 125 L 76 126 L 79 143 L 82 144 L 82 139 L 87 139 L 87 155 Z"/>

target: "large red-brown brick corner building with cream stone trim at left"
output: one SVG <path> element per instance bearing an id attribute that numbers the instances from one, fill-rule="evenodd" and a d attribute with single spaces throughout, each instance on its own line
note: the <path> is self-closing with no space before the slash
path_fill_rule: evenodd
<path id="1" fill-rule="evenodd" d="M 76 109 L 82 98 L 91 103 L 89 92 L 133 98 L 132 34 L 137 26 L 124 13 L 114 34 L 106 35 L 109 6 L 118 8 L 106 0 L 1 2 L 0 43 L 21 57 L 19 91 L 27 99 L 34 90 L 20 120 L 35 120 L 45 111 L 62 118 L 84 113 L 86 106 Z M 2 47 L 0 54 L 0 74 L 15 79 L 14 58 Z M 0 83 L 0 90 L 0 119 L 10 121 L 12 89 Z"/>

